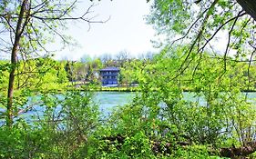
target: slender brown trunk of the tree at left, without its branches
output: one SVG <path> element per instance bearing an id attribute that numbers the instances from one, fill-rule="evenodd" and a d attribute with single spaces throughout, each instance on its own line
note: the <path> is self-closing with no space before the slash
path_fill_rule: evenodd
<path id="1" fill-rule="evenodd" d="M 19 50 L 20 37 L 23 32 L 23 20 L 26 13 L 26 4 L 28 0 L 23 0 L 20 13 L 18 16 L 18 22 L 15 30 L 15 43 L 12 49 L 11 55 L 11 72 L 9 74 L 9 85 L 7 94 L 7 114 L 6 114 L 6 125 L 12 127 L 13 124 L 13 98 L 14 98 L 14 85 L 15 85 L 15 70 L 17 65 L 17 53 Z"/>

